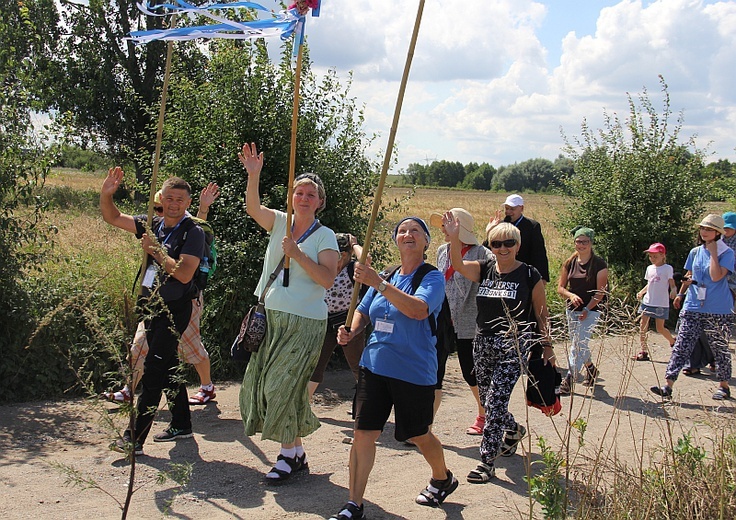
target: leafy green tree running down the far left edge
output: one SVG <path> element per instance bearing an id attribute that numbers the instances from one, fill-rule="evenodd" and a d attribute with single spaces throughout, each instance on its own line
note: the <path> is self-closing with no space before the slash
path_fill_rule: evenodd
<path id="1" fill-rule="evenodd" d="M 35 323 L 23 281 L 47 245 L 39 189 L 53 152 L 34 131 L 26 84 L 47 21 L 43 2 L 4 4 L 0 16 L 0 396 L 12 394 L 18 373 L 34 369 L 23 349 Z"/>

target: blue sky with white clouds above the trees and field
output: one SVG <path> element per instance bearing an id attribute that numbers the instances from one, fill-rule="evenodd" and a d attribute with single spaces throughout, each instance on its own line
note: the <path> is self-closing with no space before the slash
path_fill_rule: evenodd
<path id="1" fill-rule="evenodd" d="M 267 5 L 268 2 L 264 2 Z M 308 20 L 317 73 L 353 71 L 351 93 L 382 159 L 418 0 L 323 0 Z M 644 88 L 684 114 L 683 142 L 736 161 L 736 2 L 426 0 L 396 143 L 399 168 L 554 159 L 560 131 L 628 116 Z M 394 173 L 396 170 L 394 170 Z"/>

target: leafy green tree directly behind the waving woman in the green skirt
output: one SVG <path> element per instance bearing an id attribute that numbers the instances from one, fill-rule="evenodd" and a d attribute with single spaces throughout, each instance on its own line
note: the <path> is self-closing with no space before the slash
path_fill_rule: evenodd
<path id="1" fill-rule="evenodd" d="M 257 143 L 265 155 L 262 203 L 285 209 L 294 84 L 290 45 L 274 64 L 263 42 L 219 41 L 207 77 L 199 83 L 179 71 L 172 75 L 162 173 L 181 175 L 196 189 L 209 181 L 223 187 L 210 212 L 220 267 L 205 295 L 203 332 L 208 345 L 229 348 L 238 319 L 254 299 L 267 239 L 245 215 L 247 176 L 237 153 L 244 142 Z M 334 71 L 318 82 L 305 51 L 296 173 L 313 171 L 323 179 L 327 209 L 320 221 L 359 237 L 367 227 L 378 172 L 366 157 L 370 141 L 362 123 L 349 86 L 343 87 Z M 382 235 L 377 229 L 375 236 Z M 380 247 L 373 259 L 381 261 Z"/>

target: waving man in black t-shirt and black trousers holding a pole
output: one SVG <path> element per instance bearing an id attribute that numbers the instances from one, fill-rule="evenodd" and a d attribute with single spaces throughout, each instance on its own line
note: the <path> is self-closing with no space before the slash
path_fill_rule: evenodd
<path id="1" fill-rule="evenodd" d="M 137 403 L 135 438 L 126 430 L 113 449 L 129 453 L 132 446 L 136 455 L 142 455 L 143 443 L 164 390 L 168 390 L 171 424 L 163 433 L 155 435 L 154 441 L 192 436 L 186 385 L 176 374 L 177 345 L 192 313 L 192 279 L 204 254 L 204 232 L 186 213 L 192 202 L 191 187 L 183 179 L 172 177 L 162 188 L 163 216 L 153 218 L 150 228 L 153 236 L 149 235 L 145 215 L 127 215 L 115 206 L 112 197 L 122 178 L 120 167 L 110 169 L 100 191 L 100 211 L 105 222 L 140 238 L 141 247 L 148 253 L 139 303 L 145 314 L 149 352 L 141 378 L 143 391 Z"/>

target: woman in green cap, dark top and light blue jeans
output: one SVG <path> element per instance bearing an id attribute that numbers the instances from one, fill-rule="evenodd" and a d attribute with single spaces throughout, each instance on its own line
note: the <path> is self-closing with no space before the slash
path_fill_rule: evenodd
<path id="1" fill-rule="evenodd" d="M 567 326 L 572 340 L 570 369 L 560 386 L 562 394 L 572 392 L 572 385 L 583 368 L 583 384 L 595 385 L 598 369 L 591 359 L 588 343 L 600 316 L 598 305 L 605 298 L 608 286 L 608 266 L 593 252 L 595 232 L 579 226 L 572 233 L 575 253 L 562 265 L 557 284 L 557 293 L 567 300 Z"/>

